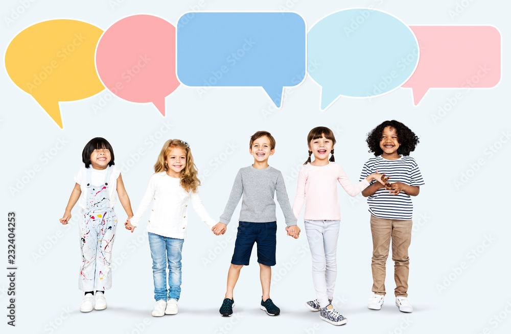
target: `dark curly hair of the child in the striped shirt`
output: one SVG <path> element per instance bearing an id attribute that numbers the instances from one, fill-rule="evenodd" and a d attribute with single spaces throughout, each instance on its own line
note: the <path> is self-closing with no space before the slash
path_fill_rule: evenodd
<path id="1" fill-rule="evenodd" d="M 390 127 L 396 129 L 398 135 L 398 154 L 399 155 L 410 155 L 410 152 L 415 150 L 415 146 L 419 144 L 419 137 L 413 133 L 410 128 L 401 122 L 396 120 L 385 121 L 367 134 L 367 146 L 369 147 L 368 152 L 373 152 L 375 156 L 383 154 L 383 150 L 380 148 L 380 140 L 382 137 L 383 129 Z"/>

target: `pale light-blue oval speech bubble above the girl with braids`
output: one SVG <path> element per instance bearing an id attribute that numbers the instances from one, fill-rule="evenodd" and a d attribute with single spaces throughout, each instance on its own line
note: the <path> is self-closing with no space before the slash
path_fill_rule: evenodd
<path id="1" fill-rule="evenodd" d="M 419 61 L 419 44 L 408 26 L 385 12 L 346 9 L 319 20 L 307 34 L 311 78 L 321 86 L 321 109 L 340 96 L 368 98 L 406 82 Z"/>

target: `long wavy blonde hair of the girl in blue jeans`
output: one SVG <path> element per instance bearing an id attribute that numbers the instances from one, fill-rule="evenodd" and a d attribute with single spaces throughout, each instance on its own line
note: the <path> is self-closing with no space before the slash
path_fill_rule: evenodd
<path id="1" fill-rule="evenodd" d="M 169 170 L 166 160 L 170 151 L 174 148 L 183 150 L 187 155 L 186 164 L 181 170 L 181 186 L 184 190 L 187 190 L 187 192 L 195 193 L 197 187 L 200 185 L 200 180 L 197 177 L 197 166 L 193 162 L 191 149 L 180 139 L 169 139 L 165 142 L 158 155 L 158 160 L 154 164 L 154 173 L 167 172 Z"/>

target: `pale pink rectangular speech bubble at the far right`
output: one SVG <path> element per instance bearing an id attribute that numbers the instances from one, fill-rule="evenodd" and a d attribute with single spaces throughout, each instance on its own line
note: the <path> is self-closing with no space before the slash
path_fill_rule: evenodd
<path id="1" fill-rule="evenodd" d="M 409 26 L 421 50 L 403 88 L 418 105 L 430 88 L 490 88 L 501 76 L 501 36 L 492 26 Z"/>

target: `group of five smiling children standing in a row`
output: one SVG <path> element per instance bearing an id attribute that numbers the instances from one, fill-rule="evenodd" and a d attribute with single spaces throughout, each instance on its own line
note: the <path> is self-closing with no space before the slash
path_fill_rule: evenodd
<path id="1" fill-rule="evenodd" d="M 419 138 L 400 122 L 385 121 L 368 134 L 366 141 L 375 157 L 364 164 L 360 181 L 353 184 L 334 160 L 335 137 L 332 131 L 326 127 L 312 129 L 307 137 L 309 158 L 299 172 L 296 197 L 291 207 L 281 172 L 268 165 L 268 158 L 275 152 L 275 139 L 266 131 L 254 133 L 249 145 L 254 163 L 238 171 L 225 210 L 217 223 L 207 213 L 199 196 L 200 181 L 187 142 L 179 139 L 165 142 L 154 165 L 155 173 L 133 214 L 121 171 L 114 165 L 112 147 L 103 138 L 90 140 L 82 152 L 84 166 L 75 177 L 75 188 L 60 219 L 62 224 L 67 224 L 72 208 L 79 203 L 82 254 L 79 289 L 85 292 L 80 311 L 107 307 L 105 290 L 111 287 L 111 249 L 117 226 L 113 206 L 117 190 L 128 216 L 125 228 L 131 232 L 152 206 L 147 231 L 156 300 L 153 316 L 178 312 L 181 252 L 187 234 L 189 200 L 200 219 L 213 233 L 221 235 L 225 233 L 240 199 L 238 233 L 220 314 L 233 314 L 234 288 L 241 268 L 249 264 L 254 243 L 257 244 L 260 266 L 261 309 L 270 316 L 280 314 L 280 309 L 270 298 L 271 266 L 275 265 L 276 249 L 276 194 L 284 213 L 287 235 L 294 238 L 300 234 L 297 218 L 305 203 L 304 227 L 312 255 L 312 278 L 316 291 L 316 299 L 306 302 L 306 306 L 312 311 L 319 311 L 320 319 L 342 325 L 347 319 L 332 306 L 341 218 L 337 196 L 339 182 L 350 196 L 362 193 L 368 197 L 374 282 L 368 307 L 380 309 L 383 304 L 385 263 L 392 240 L 396 305 L 402 312 L 412 312 L 407 298 L 408 246 L 412 228 L 410 196 L 419 194 L 419 186 L 424 181 L 409 154 Z M 311 161 L 312 155 L 314 161 Z"/>

